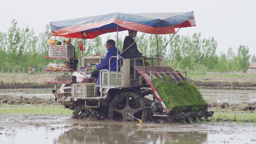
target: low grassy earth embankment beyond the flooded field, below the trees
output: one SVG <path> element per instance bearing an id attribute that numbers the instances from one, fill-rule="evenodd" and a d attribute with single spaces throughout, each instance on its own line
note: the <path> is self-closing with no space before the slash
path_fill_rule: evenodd
<path id="1" fill-rule="evenodd" d="M 59 73 L 61 74 L 61 73 Z M 256 76 L 254 75 L 189 75 L 188 81 L 199 89 L 221 90 L 256 90 Z M 43 81 L 53 81 L 54 75 L 49 74 L 0 74 L 0 89 L 47 89 L 52 84 Z"/>

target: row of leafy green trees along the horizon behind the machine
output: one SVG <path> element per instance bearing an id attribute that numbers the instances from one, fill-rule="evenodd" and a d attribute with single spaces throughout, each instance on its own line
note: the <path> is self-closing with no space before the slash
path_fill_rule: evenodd
<path id="1" fill-rule="evenodd" d="M 17 24 L 16 20 L 12 20 L 8 32 L 0 32 L 0 66 L 45 67 L 48 63 L 53 63 L 53 60 L 43 58 L 43 55 L 48 55 L 47 40 L 53 38 L 49 25 L 46 25 L 45 32 L 36 34 L 34 29 L 20 28 Z M 176 70 L 246 72 L 249 61 L 256 62 L 256 56 L 251 56 L 249 48 L 245 45 L 239 45 L 237 52 L 229 48 L 228 53 L 217 54 L 216 39 L 214 37 L 203 38 L 201 33 L 195 33 L 192 36 L 176 34 L 165 47 L 172 36 L 146 34 L 137 36 L 135 40 L 139 51 L 147 57 L 157 54 L 156 42 L 158 41 L 159 52 L 161 51 L 159 55 L 164 56 L 166 64 Z M 66 38 L 57 37 L 57 39 Z M 107 39 L 110 39 L 110 36 Z M 117 43 L 117 36 L 114 39 Z M 72 40 L 79 60 L 81 60 L 81 51 L 77 41 L 80 40 Z M 124 38 L 119 37 L 120 51 L 123 40 Z M 106 54 L 105 43 L 106 41 L 103 41 L 101 36 L 85 40 L 85 55 Z"/>

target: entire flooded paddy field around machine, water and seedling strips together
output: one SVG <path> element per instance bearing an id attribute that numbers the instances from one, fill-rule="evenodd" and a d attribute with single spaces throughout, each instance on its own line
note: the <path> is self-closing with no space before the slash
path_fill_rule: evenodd
<path id="1" fill-rule="evenodd" d="M 256 144 L 256 110 L 236 108 L 255 103 L 256 90 L 200 91 L 215 111 L 210 121 L 140 125 L 72 119 L 71 110 L 52 103 L 51 89 L 0 90 L 0 97 L 42 101 L 0 104 L 0 144 Z"/>

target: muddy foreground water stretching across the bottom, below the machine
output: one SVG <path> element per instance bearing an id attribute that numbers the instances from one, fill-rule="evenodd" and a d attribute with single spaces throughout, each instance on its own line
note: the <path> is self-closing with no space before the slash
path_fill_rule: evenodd
<path id="1" fill-rule="evenodd" d="M 1 144 L 255 144 L 256 125 L 143 124 L 68 116 L 0 116 Z"/>

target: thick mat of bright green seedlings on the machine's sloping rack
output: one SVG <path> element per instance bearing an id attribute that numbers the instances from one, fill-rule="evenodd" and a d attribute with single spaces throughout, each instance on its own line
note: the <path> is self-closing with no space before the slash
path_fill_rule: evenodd
<path id="1" fill-rule="evenodd" d="M 164 79 L 153 79 L 152 83 L 167 107 L 173 111 L 181 112 L 183 108 L 186 111 L 196 111 L 207 107 L 200 91 L 187 81 L 176 84 L 171 77 L 166 76 Z"/>

